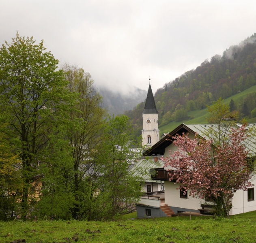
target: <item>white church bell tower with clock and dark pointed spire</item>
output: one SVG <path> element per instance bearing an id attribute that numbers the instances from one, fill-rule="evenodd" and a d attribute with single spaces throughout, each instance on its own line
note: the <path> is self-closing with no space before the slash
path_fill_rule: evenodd
<path id="1" fill-rule="evenodd" d="M 148 148 L 152 147 L 159 141 L 160 130 L 158 129 L 158 111 L 157 107 L 155 106 L 155 100 L 150 85 L 150 79 L 146 104 L 144 107 L 144 111 L 142 112 L 142 123 L 142 146 L 146 145 L 146 147 Z"/>

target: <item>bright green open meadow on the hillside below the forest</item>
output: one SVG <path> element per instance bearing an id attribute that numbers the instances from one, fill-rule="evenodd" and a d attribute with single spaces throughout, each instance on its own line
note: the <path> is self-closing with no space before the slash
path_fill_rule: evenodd
<path id="1" fill-rule="evenodd" d="M 224 100 L 224 103 L 229 104 L 230 100 L 233 99 L 234 102 L 239 104 L 241 100 L 243 100 L 248 94 L 256 92 L 256 85 L 250 87 L 247 90 L 244 90 L 243 92 L 240 92 L 238 94 L 234 94 L 233 96 L 230 96 L 229 98 L 226 98 Z M 177 126 L 179 126 L 181 123 L 185 124 L 206 124 L 207 123 L 207 108 L 198 110 L 198 111 L 189 111 L 188 115 L 190 117 L 194 117 L 193 119 L 185 119 L 181 122 L 170 122 L 166 124 L 165 126 L 160 127 L 160 134 L 163 134 L 164 132 L 171 132 L 174 130 Z M 256 122 L 256 117 L 248 119 L 249 123 Z"/>

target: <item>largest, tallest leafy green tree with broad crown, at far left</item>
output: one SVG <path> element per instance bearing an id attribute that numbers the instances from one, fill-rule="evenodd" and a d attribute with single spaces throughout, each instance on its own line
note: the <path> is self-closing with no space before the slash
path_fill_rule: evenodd
<path id="1" fill-rule="evenodd" d="M 75 100 L 65 87 L 58 60 L 45 51 L 43 41 L 19 36 L 0 49 L 0 119 L 8 128 L 21 161 L 22 220 L 28 215 L 29 188 L 37 178 L 37 168 L 49 134 L 65 123 Z M 53 129 L 54 128 L 54 129 Z"/>

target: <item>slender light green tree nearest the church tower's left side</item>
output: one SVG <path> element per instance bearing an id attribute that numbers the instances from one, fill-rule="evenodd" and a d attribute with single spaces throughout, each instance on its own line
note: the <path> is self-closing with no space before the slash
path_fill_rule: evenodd
<path id="1" fill-rule="evenodd" d="M 141 178 L 136 176 L 135 172 L 129 171 L 131 164 L 138 160 L 142 153 L 139 149 L 141 139 L 134 138 L 132 134 L 129 117 L 109 117 L 104 136 L 104 150 L 107 151 L 106 190 L 110 196 L 112 216 L 136 203 L 141 195 Z"/>

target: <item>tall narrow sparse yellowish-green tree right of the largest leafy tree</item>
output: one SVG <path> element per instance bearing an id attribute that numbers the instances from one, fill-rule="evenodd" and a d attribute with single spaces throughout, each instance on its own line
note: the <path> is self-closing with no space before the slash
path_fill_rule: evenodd
<path id="1" fill-rule="evenodd" d="M 79 204 L 78 191 L 82 190 L 80 184 L 84 184 L 84 178 L 90 180 L 90 175 L 95 173 L 95 162 L 92 161 L 102 140 L 105 110 L 102 96 L 97 92 L 88 72 L 69 64 L 64 64 L 62 69 L 65 70 L 65 79 L 69 82 L 69 91 L 79 93 L 75 110 L 70 112 L 71 127 L 67 135 L 73 157 L 73 190 Z M 74 218 L 78 217 L 78 211 L 78 206 L 73 209 Z"/>

